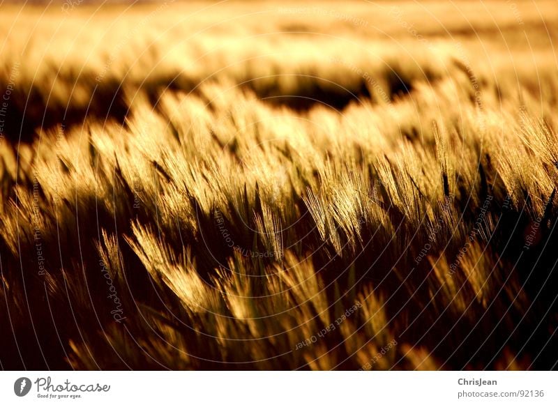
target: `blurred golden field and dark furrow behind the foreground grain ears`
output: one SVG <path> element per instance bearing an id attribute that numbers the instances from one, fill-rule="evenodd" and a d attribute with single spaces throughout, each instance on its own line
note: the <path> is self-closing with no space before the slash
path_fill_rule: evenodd
<path id="1" fill-rule="evenodd" d="M 520 83 L 536 99 L 555 99 L 552 1 L 68 4 L 2 6 L 3 84 L 22 62 L 10 132 L 21 121 L 25 136 L 38 123 L 80 121 L 88 106 L 122 119 L 127 87 L 156 97 L 167 86 L 192 91 L 218 80 L 275 102 L 312 95 L 342 107 L 349 92 L 377 93 L 363 73 L 391 97 L 462 79 L 456 60 L 490 86 L 486 93 L 518 98 Z M 91 94 L 102 102 L 89 102 Z"/>

